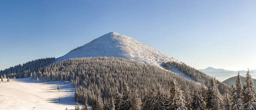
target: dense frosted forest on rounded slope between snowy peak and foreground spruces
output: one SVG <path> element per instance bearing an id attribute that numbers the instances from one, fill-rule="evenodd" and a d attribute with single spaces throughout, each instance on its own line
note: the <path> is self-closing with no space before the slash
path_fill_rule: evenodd
<path id="1" fill-rule="evenodd" d="M 102 96 L 104 100 L 112 97 L 116 89 L 121 92 L 124 83 L 127 83 L 132 91 L 139 90 L 140 96 L 143 96 L 143 90 L 151 89 L 152 85 L 156 84 L 161 84 L 167 91 L 173 80 L 177 81 L 182 90 L 186 90 L 186 95 L 190 95 L 194 88 L 199 87 L 199 84 L 160 67 L 114 57 L 63 60 L 41 68 L 31 76 L 38 76 L 46 81 L 70 80 L 74 87 L 78 87 L 77 92 L 88 98 L 89 104 L 97 95 Z M 78 102 L 84 101 L 82 96 L 78 97 Z"/>

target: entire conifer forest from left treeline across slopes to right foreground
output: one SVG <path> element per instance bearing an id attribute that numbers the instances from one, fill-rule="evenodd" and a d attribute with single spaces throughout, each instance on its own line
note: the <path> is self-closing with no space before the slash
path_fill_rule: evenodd
<path id="1" fill-rule="evenodd" d="M 71 81 L 82 110 L 91 104 L 95 110 L 255 110 L 253 79 L 246 74 L 236 86 L 218 83 L 215 78 L 185 65 L 165 62 L 167 70 L 177 69 L 195 83 L 160 67 L 143 65 L 123 58 L 87 57 L 63 60 L 38 59 L 1 71 L 1 81 L 10 77 L 29 77 L 43 81 Z M 24 72 L 22 72 L 24 71 Z M 7 75 L 6 75 L 7 74 Z M 199 77 L 199 78 L 196 78 Z M 10 80 L 9 80 L 10 81 Z M 8 81 L 7 81 L 8 82 Z M 203 84 L 206 84 L 205 85 Z M 223 87 L 220 91 L 218 87 Z M 79 106 L 75 110 L 81 110 Z"/>

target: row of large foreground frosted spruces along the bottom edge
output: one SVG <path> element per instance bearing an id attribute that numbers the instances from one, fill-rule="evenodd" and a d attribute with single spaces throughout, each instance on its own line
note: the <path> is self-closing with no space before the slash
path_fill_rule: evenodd
<path id="1" fill-rule="evenodd" d="M 215 78 L 210 78 L 207 87 L 203 84 L 195 88 L 192 96 L 184 96 L 183 91 L 175 83 L 171 82 L 171 87 L 165 91 L 160 84 L 153 85 L 150 90 L 143 91 L 144 97 L 141 97 L 137 90 L 131 92 L 128 85 L 123 85 L 122 92 L 112 95 L 110 100 L 104 103 L 100 96 L 96 96 L 92 103 L 93 110 L 255 110 L 256 99 L 253 80 L 249 74 L 246 74 L 245 84 L 241 84 L 241 78 L 238 73 L 236 87 L 232 85 L 231 91 L 226 91 L 221 95 L 218 90 L 218 84 Z M 75 98 L 78 97 L 76 90 Z M 86 100 L 86 99 L 85 99 Z M 85 106 L 87 108 L 87 100 Z M 78 108 L 78 109 L 77 109 Z M 76 106 L 75 110 L 79 109 Z"/>

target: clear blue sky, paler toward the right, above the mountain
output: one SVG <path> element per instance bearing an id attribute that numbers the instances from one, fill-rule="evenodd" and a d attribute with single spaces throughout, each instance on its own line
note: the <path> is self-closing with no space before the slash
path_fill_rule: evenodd
<path id="1" fill-rule="evenodd" d="M 109 32 L 196 69 L 256 69 L 255 0 L 3 0 L 0 70 Z"/>

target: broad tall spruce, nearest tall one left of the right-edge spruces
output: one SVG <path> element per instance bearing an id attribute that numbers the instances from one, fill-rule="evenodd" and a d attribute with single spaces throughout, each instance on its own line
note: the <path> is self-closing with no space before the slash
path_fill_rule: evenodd
<path id="1" fill-rule="evenodd" d="M 208 110 L 221 110 L 221 94 L 218 90 L 216 79 L 211 78 L 205 92 L 206 106 Z"/>

